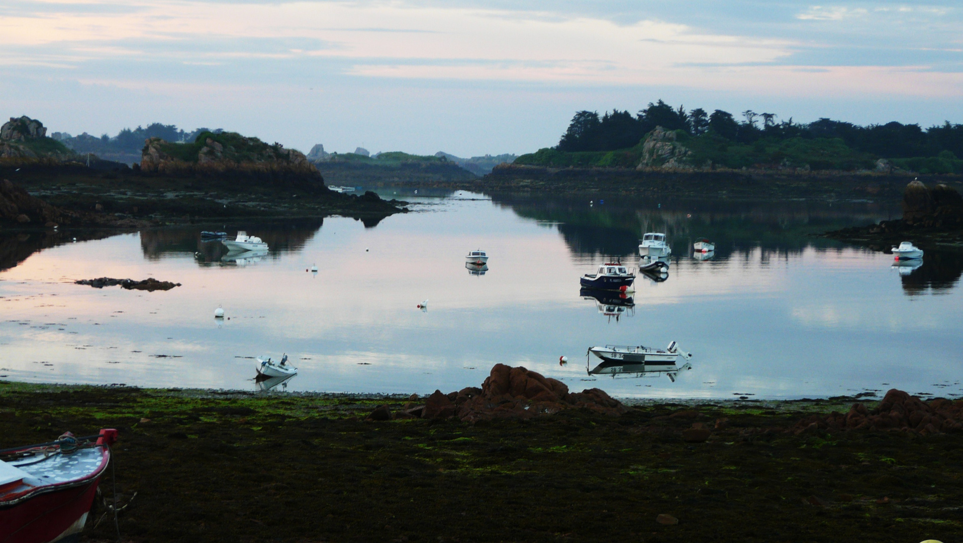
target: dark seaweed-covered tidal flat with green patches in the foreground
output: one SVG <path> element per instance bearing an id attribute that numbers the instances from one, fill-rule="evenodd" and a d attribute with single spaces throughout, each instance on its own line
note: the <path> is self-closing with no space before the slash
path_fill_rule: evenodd
<path id="1" fill-rule="evenodd" d="M 853 397 L 367 421 L 406 395 L 0 382 L 0 448 L 116 427 L 123 541 L 956 541 L 963 436 L 812 430 Z M 423 399 L 420 399 L 423 400 Z M 714 428 L 703 443 L 682 430 Z M 718 423 L 718 424 L 717 424 Z M 95 508 L 85 541 L 115 541 Z M 659 515 L 678 524 L 664 525 Z"/>

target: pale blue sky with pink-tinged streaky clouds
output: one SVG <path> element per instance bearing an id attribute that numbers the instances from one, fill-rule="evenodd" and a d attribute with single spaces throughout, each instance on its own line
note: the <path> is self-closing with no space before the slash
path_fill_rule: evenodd
<path id="1" fill-rule="evenodd" d="M 558 143 L 576 111 L 963 123 L 963 5 L 793 0 L 4 0 L 0 117 L 307 151 Z"/>

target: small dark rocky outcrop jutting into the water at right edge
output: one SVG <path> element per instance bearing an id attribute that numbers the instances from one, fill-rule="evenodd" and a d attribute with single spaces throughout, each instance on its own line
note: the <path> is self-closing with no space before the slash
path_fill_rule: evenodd
<path id="1" fill-rule="evenodd" d="M 835 230 L 825 236 L 884 251 L 904 241 L 923 248 L 963 250 L 963 197 L 953 187 L 946 183 L 926 187 L 915 179 L 903 191 L 902 211 L 901 219 Z"/>

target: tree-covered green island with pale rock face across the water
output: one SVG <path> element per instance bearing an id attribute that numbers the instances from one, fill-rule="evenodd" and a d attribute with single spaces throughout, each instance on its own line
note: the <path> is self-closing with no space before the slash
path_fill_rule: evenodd
<path id="1" fill-rule="evenodd" d="M 633 116 L 581 111 L 555 147 L 518 157 L 514 165 L 548 168 L 635 168 L 657 171 L 963 173 L 963 124 L 896 121 L 859 126 L 820 118 L 687 111 L 663 100 Z"/>

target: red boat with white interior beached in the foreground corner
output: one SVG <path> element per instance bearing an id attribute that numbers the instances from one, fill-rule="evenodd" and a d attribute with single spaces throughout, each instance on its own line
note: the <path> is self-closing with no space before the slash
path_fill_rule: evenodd
<path id="1" fill-rule="evenodd" d="M 101 429 L 0 451 L 0 543 L 79 538 L 116 441 L 116 429 Z"/>

